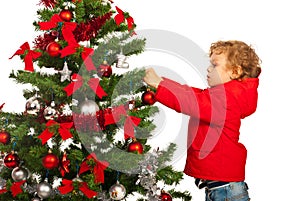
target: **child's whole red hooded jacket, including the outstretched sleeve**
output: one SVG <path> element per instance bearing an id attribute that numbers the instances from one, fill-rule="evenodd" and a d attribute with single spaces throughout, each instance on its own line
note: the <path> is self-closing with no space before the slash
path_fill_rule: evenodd
<path id="1" fill-rule="evenodd" d="M 192 177 L 243 181 L 247 150 L 239 142 L 241 119 L 256 110 L 258 78 L 197 89 L 164 78 L 156 99 L 190 116 L 184 172 Z"/>

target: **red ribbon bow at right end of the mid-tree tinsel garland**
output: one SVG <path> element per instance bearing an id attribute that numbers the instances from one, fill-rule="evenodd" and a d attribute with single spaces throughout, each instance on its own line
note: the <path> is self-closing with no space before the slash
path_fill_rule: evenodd
<path id="1" fill-rule="evenodd" d="M 141 118 L 135 116 L 127 115 L 124 105 L 118 106 L 112 110 L 111 113 L 105 114 L 104 126 L 115 124 L 121 118 L 121 116 L 126 116 L 124 123 L 124 138 L 125 140 L 134 137 L 134 127 L 138 126 L 141 122 Z"/>

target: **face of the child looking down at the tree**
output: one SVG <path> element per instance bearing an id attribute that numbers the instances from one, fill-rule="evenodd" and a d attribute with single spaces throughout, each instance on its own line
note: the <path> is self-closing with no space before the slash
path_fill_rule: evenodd
<path id="1" fill-rule="evenodd" d="M 226 67 L 227 57 L 224 53 L 213 53 L 210 57 L 211 65 L 207 68 L 207 82 L 210 87 L 224 84 L 231 80 L 232 70 Z"/>

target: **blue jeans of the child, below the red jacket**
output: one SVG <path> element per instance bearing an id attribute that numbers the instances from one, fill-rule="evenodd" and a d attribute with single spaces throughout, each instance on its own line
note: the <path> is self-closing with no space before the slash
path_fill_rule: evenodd
<path id="1" fill-rule="evenodd" d="M 248 201 L 248 186 L 246 182 L 231 182 L 215 189 L 205 190 L 205 201 Z"/>

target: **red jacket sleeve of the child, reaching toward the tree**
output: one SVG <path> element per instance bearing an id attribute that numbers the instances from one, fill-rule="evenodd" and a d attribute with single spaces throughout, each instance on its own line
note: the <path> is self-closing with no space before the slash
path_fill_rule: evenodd
<path id="1" fill-rule="evenodd" d="M 198 89 L 164 78 L 160 82 L 156 100 L 177 112 L 209 123 L 224 122 L 226 112 L 224 87 Z"/>

